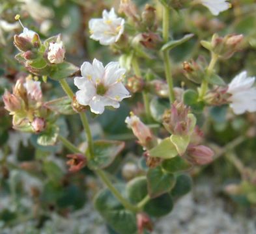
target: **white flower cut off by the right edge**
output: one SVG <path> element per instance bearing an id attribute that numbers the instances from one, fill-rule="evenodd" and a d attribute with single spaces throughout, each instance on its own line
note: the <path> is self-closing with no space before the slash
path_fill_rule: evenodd
<path id="1" fill-rule="evenodd" d="M 242 72 L 231 81 L 227 92 L 231 94 L 231 108 L 235 114 L 256 111 L 256 88 L 253 87 L 255 77 L 247 77 L 247 72 Z"/>

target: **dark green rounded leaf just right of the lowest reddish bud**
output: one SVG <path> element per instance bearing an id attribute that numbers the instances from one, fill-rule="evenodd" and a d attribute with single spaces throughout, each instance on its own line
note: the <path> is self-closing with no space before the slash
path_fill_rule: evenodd
<path id="1" fill-rule="evenodd" d="M 170 194 L 163 194 L 150 200 L 144 207 L 144 211 L 150 216 L 161 217 L 169 214 L 173 209 L 173 199 Z"/>

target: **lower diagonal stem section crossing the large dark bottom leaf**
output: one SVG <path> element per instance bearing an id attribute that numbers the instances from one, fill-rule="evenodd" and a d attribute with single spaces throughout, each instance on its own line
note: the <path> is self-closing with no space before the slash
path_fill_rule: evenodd
<path id="1" fill-rule="evenodd" d="M 115 197 L 122 203 L 124 208 L 132 212 L 139 211 L 138 207 L 136 207 L 135 205 L 132 205 L 128 200 L 126 200 L 126 198 L 124 198 L 122 194 L 117 190 L 117 188 L 113 186 L 113 183 L 111 183 L 111 181 L 108 179 L 104 171 L 98 169 L 98 170 L 95 170 L 94 172 L 98 175 L 98 177 L 100 177 L 100 179 L 102 179 L 102 181 L 105 183 L 107 188 L 109 188 L 109 190 L 115 195 Z"/>

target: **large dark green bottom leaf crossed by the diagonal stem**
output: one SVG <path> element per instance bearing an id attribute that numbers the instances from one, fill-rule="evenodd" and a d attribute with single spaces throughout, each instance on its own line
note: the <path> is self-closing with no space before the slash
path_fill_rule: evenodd
<path id="1" fill-rule="evenodd" d="M 124 185 L 115 186 L 126 197 Z M 124 209 L 122 204 L 107 188 L 101 190 L 94 199 L 94 206 L 106 222 L 119 234 L 137 233 L 135 214 Z"/>

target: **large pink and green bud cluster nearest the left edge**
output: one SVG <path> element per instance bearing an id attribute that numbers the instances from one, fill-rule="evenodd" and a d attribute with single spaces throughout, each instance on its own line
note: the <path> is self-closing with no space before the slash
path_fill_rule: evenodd
<path id="1" fill-rule="evenodd" d="M 13 88 L 12 94 L 5 91 L 3 95 L 5 109 L 13 116 L 14 129 L 40 133 L 46 128 L 47 110 L 42 106 L 42 90 L 39 81 L 20 78 Z"/>

